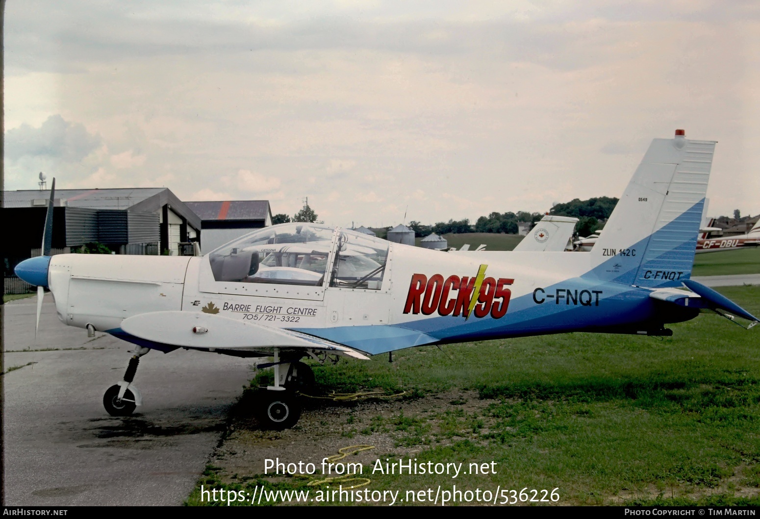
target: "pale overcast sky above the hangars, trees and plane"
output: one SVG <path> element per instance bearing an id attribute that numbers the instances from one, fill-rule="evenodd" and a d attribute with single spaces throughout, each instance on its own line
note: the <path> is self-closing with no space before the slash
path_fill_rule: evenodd
<path id="1" fill-rule="evenodd" d="M 619 197 L 676 128 L 718 141 L 710 214 L 760 213 L 758 2 L 5 8 L 11 190 L 43 171 L 290 216 L 308 196 L 335 225 L 474 222 Z"/>

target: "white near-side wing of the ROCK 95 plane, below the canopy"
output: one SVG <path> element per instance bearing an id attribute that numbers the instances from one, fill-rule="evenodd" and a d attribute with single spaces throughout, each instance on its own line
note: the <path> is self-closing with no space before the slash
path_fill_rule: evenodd
<path id="1" fill-rule="evenodd" d="M 122 321 L 122 330 L 140 339 L 177 347 L 217 350 L 309 348 L 368 359 L 353 348 L 297 331 L 201 312 L 149 312 Z"/>

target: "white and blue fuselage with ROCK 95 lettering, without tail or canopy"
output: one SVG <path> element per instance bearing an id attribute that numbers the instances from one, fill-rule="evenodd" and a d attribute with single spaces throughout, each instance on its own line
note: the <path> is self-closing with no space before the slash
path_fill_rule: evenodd
<path id="1" fill-rule="evenodd" d="M 326 264 L 335 264 L 338 242 L 333 240 Z M 390 244 L 382 283 L 368 290 L 336 286 L 330 269 L 319 284 L 309 285 L 217 280 L 209 255 L 55 255 L 49 287 L 59 318 L 82 328 L 92 324 L 118 334 L 121 321 L 132 315 L 205 312 L 301 331 L 370 354 L 566 331 L 647 333 L 693 316 L 663 315 L 650 290 L 600 280 L 590 258 L 566 252 L 443 255 Z M 295 270 L 270 270 L 278 268 Z"/>

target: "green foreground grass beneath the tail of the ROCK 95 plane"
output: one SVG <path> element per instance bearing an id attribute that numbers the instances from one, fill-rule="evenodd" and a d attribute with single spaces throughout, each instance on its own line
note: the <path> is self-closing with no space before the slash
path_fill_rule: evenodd
<path id="1" fill-rule="evenodd" d="M 760 314 L 760 286 L 717 290 Z M 577 333 L 448 345 L 445 353 L 419 347 L 394 353 L 392 363 L 377 356 L 315 366 L 315 375 L 336 391 L 463 388 L 489 399 L 477 412 L 451 400 L 437 414 L 373 419 L 356 435 L 391 431 L 395 448 L 415 448 L 418 463 L 494 462 L 496 473 L 372 474 L 373 490 L 456 484 L 558 489 L 565 505 L 760 505 L 760 327 L 706 314 L 669 328 L 673 337 Z M 366 441 L 359 438 L 352 441 Z M 378 452 L 385 457 L 398 455 Z"/>

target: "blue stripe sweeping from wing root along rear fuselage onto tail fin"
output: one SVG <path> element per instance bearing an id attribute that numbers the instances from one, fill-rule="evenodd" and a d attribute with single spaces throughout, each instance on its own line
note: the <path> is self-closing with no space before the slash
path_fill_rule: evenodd
<path id="1" fill-rule="evenodd" d="M 677 265 L 682 268 L 685 264 L 684 260 L 689 257 L 693 261 L 698 229 L 693 229 L 693 233 L 689 231 L 691 235 L 684 229 L 689 228 L 696 211 L 701 214 L 702 204 L 704 204 L 704 199 L 652 235 L 631 245 L 631 248 L 638 248 L 644 251 L 644 254 L 640 262 L 630 263 L 625 271 L 615 267 L 619 263 L 619 258 L 613 256 L 580 277 L 542 287 L 546 295 L 553 294 L 555 297 L 546 298 L 541 304 L 534 300 L 535 293 L 512 299 L 507 314 L 499 319 L 494 319 L 490 315 L 485 318 L 467 320 L 461 316 L 445 316 L 399 324 L 296 328 L 296 330 L 367 353 L 377 354 L 423 344 L 447 342 L 454 338 L 486 340 L 521 335 L 555 334 L 648 321 L 655 317 L 654 302 L 649 297 L 650 290 L 632 286 L 632 283 L 659 288 L 682 286 L 681 280 L 689 279 L 691 267 L 688 271 L 684 269 L 677 280 L 660 279 L 654 277 L 654 273 L 647 278 L 645 274 L 652 269 L 657 269 L 653 272 L 667 269 L 673 262 L 675 262 L 673 267 Z M 663 236 L 667 236 L 670 242 L 673 242 L 674 236 L 681 236 L 683 241 L 660 255 L 652 254 L 651 250 L 648 250 L 648 245 Z M 562 294 L 562 290 L 571 290 L 572 293 L 588 290 L 593 294 L 594 301 L 591 305 L 573 304 L 566 295 L 562 298 L 557 297 Z M 598 294 L 598 305 L 597 294 L 594 291 L 601 292 Z"/>

